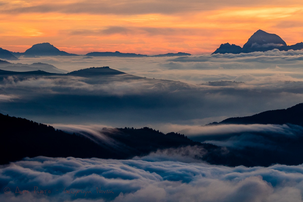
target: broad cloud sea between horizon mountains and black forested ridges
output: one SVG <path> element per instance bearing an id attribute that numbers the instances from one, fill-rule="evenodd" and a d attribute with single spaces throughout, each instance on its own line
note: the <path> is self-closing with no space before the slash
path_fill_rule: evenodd
<path id="1" fill-rule="evenodd" d="M 77 76 L 8 77 L 0 83 L 4 106 L 0 113 L 49 124 L 204 125 L 303 102 L 303 51 L 163 58 L 38 57 L 19 62 L 43 62 L 67 71 L 110 66 L 146 77 L 120 75 L 93 81 Z"/>

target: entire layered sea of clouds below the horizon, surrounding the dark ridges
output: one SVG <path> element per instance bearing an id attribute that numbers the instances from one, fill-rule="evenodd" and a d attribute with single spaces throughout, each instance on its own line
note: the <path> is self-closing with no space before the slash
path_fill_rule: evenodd
<path id="1" fill-rule="evenodd" d="M 74 76 L 8 77 L 0 82 L 1 113 L 57 123 L 56 128 L 80 131 L 91 139 L 113 143 L 100 131 L 148 126 L 231 148 L 270 149 L 276 145 L 275 137 L 295 141 L 303 130 L 270 124 L 203 126 L 302 103 L 303 51 L 172 58 L 39 57 L 19 62 L 44 62 L 68 71 L 110 66 L 151 78 L 119 76 L 92 82 Z M 221 80 L 222 85 L 209 83 Z M 227 85 L 225 80 L 244 83 Z M 25 158 L 0 167 L 0 200 L 302 201 L 303 165 L 226 167 L 200 161 L 194 158 L 196 152 L 203 155 L 203 150 L 182 147 L 130 160 Z"/>

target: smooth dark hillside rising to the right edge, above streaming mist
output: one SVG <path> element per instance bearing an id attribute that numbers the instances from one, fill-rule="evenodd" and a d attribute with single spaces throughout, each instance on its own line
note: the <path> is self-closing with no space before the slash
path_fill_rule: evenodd
<path id="1" fill-rule="evenodd" d="M 271 110 L 247 117 L 228 118 L 218 124 L 294 124 L 303 126 L 303 103 L 288 109 Z"/>

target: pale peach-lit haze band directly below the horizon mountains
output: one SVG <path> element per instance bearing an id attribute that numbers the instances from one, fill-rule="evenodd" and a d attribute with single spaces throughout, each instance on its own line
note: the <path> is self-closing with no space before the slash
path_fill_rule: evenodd
<path id="1" fill-rule="evenodd" d="M 250 54 L 201 55 L 163 58 L 118 57 L 40 57 L 21 58 L 21 63 L 48 63 L 59 69 L 74 71 L 109 66 L 136 76 L 179 80 L 200 84 L 232 80 L 248 84 L 273 81 L 302 81 L 303 51 L 269 51 Z"/>

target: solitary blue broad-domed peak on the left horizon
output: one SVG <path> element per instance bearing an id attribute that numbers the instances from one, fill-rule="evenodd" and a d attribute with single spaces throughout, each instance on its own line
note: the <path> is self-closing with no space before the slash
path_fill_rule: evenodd
<path id="1" fill-rule="evenodd" d="M 38 43 L 27 49 L 21 55 L 26 57 L 35 56 L 77 56 L 76 54 L 69 54 L 64 51 L 60 51 L 57 47 L 50 43 Z"/>

